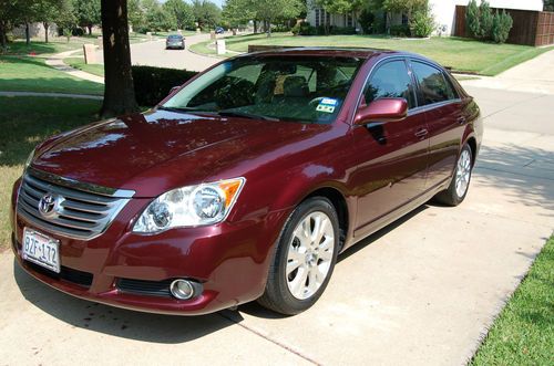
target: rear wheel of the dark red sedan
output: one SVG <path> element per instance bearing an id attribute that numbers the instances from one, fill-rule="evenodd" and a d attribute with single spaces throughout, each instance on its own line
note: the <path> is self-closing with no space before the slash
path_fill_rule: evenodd
<path id="1" fill-rule="evenodd" d="M 449 188 L 437 195 L 434 197 L 435 201 L 454 207 L 465 199 L 468 190 L 470 189 L 471 174 L 473 171 L 472 161 L 473 154 L 470 146 L 465 144 L 458 157 L 454 175 L 452 176 Z"/>

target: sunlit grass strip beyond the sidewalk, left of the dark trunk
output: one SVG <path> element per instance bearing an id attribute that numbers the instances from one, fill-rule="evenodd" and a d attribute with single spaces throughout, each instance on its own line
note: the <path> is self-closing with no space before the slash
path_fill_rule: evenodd
<path id="1" fill-rule="evenodd" d="M 0 91 L 102 95 L 104 85 L 57 71 L 40 57 L 0 56 Z"/>

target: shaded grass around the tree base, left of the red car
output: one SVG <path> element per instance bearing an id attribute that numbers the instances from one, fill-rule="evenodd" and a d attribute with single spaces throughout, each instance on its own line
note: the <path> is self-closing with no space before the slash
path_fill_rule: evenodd
<path id="1" fill-rule="evenodd" d="M 0 96 L 0 251 L 9 248 L 8 210 L 13 182 L 37 144 L 96 118 L 101 102 Z"/>

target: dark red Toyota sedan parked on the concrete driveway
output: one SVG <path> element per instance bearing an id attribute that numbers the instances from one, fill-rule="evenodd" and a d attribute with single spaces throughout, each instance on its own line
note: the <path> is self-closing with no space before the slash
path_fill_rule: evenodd
<path id="1" fill-rule="evenodd" d="M 473 98 L 416 54 L 238 56 L 38 146 L 13 187 L 13 251 L 114 306 L 296 314 L 338 253 L 432 198 L 460 203 L 482 133 Z"/>

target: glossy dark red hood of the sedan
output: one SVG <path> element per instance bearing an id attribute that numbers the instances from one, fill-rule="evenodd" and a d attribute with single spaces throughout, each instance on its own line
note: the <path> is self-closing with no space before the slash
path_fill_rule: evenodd
<path id="1" fill-rule="evenodd" d="M 135 197 L 156 197 L 207 177 L 232 178 L 218 172 L 236 166 L 237 159 L 283 149 L 321 129 L 328 126 L 153 111 L 62 134 L 38 149 L 32 166 L 78 181 L 132 189 Z"/>

